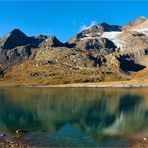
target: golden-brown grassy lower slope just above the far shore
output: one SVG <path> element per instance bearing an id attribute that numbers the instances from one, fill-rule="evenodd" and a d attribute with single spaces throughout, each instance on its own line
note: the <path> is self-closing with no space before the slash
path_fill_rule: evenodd
<path id="1" fill-rule="evenodd" d="M 103 68 L 68 68 L 57 65 L 39 65 L 31 60 L 15 65 L 0 79 L 1 86 L 17 85 L 57 85 L 72 83 L 92 83 L 101 81 L 126 80 L 125 75 Z"/>

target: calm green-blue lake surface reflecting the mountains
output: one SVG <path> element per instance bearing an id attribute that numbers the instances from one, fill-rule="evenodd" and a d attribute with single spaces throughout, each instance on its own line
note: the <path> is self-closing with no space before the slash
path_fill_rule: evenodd
<path id="1" fill-rule="evenodd" d="M 128 146 L 148 132 L 148 88 L 0 88 L 0 131 L 38 146 Z"/>

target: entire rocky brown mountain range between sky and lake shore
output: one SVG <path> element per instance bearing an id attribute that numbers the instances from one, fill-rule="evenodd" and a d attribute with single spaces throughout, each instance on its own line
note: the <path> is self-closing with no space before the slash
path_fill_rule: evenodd
<path id="1" fill-rule="evenodd" d="M 146 79 L 148 19 L 101 23 L 66 43 L 28 37 L 19 29 L 0 39 L 0 85 L 49 85 Z"/>

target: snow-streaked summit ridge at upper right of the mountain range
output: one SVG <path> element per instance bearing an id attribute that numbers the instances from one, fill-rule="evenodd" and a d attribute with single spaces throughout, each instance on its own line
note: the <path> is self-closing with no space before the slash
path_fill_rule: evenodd
<path id="1" fill-rule="evenodd" d="M 128 46 L 127 42 L 132 40 L 132 38 L 138 38 L 139 34 L 148 36 L 148 18 L 139 17 L 134 22 L 128 23 L 123 27 L 109 25 L 107 23 L 94 25 L 91 28 L 78 33 L 69 41 L 69 43 L 106 38 L 112 41 L 118 49 L 123 51 Z M 127 38 L 128 40 L 126 40 Z"/>

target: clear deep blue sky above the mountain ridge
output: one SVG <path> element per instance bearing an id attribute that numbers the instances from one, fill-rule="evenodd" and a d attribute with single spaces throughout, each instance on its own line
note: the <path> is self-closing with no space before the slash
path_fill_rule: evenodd
<path id="1" fill-rule="evenodd" d="M 148 17 L 148 1 L 0 1 L 0 37 L 14 28 L 65 42 L 92 22 L 123 25 Z"/>

